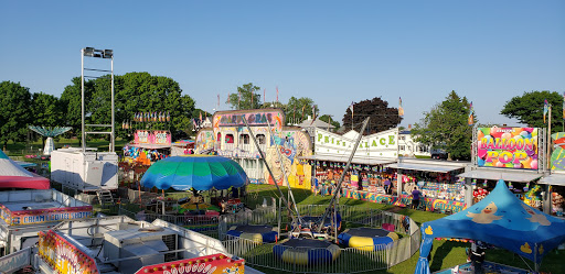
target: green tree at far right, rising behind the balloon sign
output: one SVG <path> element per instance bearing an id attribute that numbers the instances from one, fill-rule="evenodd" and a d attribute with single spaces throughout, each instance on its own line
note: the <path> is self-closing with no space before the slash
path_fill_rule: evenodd
<path id="1" fill-rule="evenodd" d="M 522 96 L 516 96 L 507 101 L 501 114 L 508 118 L 515 118 L 521 123 L 525 123 L 534 128 L 545 128 L 547 123 L 543 122 L 543 103 L 552 105 L 552 132 L 557 132 L 562 129 L 563 122 L 563 96 L 557 91 L 531 91 L 524 92 Z M 546 118 L 546 121 L 548 118 Z"/>

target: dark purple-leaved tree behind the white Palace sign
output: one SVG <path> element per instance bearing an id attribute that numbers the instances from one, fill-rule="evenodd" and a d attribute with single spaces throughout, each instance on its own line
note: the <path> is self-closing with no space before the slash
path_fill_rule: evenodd
<path id="1" fill-rule="evenodd" d="M 402 122 L 402 117 L 398 116 L 398 109 L 390 108 L 388 102 L 381 99 L 381 97 L 353 103 L 353 112 L 351 109 L 351 107 L 348 107 L 345 110 L 345 114 L 342 119 L 343 127 L 351 129 L 351 124 L 361 124 L 363 120 L 371 117 L 364 134 L 385 131 L 395 128 Z"/>

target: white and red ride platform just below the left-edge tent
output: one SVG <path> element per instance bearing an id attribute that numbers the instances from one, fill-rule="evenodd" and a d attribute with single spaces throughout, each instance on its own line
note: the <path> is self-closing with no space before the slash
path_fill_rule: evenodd
<path id="1" fill-rule="evenodd" d="M 0 191 L 2 255 L 33 246 L 38 232 L 63 220 L 90 218 L 93 206 L 54 189 Z"/>

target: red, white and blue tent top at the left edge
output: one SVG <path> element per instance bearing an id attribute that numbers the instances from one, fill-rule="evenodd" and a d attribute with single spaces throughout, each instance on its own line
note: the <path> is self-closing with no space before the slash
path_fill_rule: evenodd
<path id="1" fill-rule="evenodd" d="M 0 188 L 49 189 L 47 178 L 28 172 L 0 151 Z"/>

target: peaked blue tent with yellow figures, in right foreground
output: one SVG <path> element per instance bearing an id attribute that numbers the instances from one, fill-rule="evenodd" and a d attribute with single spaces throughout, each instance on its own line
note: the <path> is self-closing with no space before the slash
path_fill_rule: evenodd
<path id="1" fill-rule="evenodd" d="M 422 224 L 422 245 L 414 273 L 430 273 L 427 256 L 434 238 L 483 241 L 532 260 L 536 265 L 565 241 L 565 221 L 516 198 L 501 179 L 484 199 L 458 213 Z"/>

